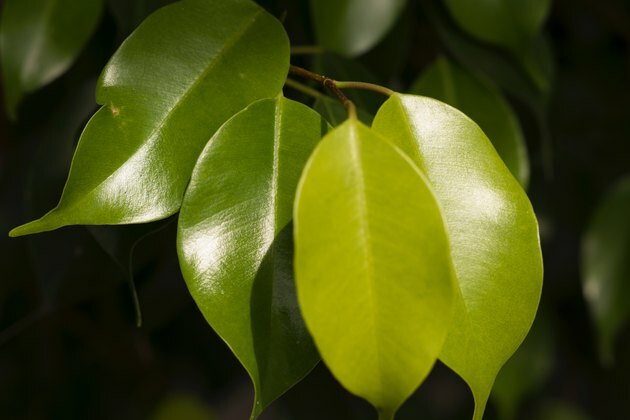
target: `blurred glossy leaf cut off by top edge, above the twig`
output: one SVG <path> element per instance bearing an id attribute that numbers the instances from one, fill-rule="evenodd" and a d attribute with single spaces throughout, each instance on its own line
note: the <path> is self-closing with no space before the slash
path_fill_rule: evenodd
<path id="1" fill-rule="evenodd" d="M 311 0 L 319 44 L 327 51 L 357 56 L 391 29 L 406 0 Z"/>

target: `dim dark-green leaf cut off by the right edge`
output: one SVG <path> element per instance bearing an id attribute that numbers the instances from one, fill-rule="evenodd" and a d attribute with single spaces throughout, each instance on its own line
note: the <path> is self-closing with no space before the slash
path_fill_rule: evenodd
<path id="1" fill-rule="evenodd" d="M 582 290 L 597 328 L 602 362 L 614 361 L 630 318 L 630 177 L 598 205 L 582 241 Z"/>

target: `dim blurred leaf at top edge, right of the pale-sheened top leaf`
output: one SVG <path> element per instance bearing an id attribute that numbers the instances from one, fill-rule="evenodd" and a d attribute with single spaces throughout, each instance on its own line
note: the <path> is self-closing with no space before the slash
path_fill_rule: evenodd
<path id="1" fill-rule="evenodd" d="M 455 21 L 481 41 L 518 48 L 538 34 L 551 0 L 445 0 Z"/>

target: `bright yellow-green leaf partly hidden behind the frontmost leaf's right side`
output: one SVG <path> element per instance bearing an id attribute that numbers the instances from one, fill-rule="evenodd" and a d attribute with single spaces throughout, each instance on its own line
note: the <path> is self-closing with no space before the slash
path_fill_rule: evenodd
<path id="1" fill-rule="evenodd" d="M 463 299 L 440 359 L 468 383 L 481 419 L 496 374 L 538 307 L 536 217 L 483 131 L 455 108 L 395 94 L 373 127 L 418 165 L 442 208 Z"/>

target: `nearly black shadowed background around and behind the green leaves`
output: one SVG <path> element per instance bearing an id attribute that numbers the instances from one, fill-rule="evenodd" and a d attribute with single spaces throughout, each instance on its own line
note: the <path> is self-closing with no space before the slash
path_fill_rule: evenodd
<path id="1" fill-rule="evenodd" d="M 172 221 L 6 234 L 54 207 L 80 130 L 96 110 L 96 77 L 124 37 L 166 3 L 109 1 L 97 33 L 65 75 L 30 95 L 17 122 L 0 109 L 0 418 L 153 418 L 174 401 L 201 404 L 220 419 L 249 415 L 249 379 L 188 294 Z M 293 44 L 314 43 L 303 1 L 260 3 L 278 17 L 287 12 Z M 409 3 L 390 36 L 359 59 L 376 81 L 395 89 L 408 87 L 438 54 L 452 55 L 431 17 L 444 12 L 439 3 Z M 618 338 L 615 364 L 603 367 L 580 282 L 586 226 L 606 190 L 630 173 L 630 2 L 557 0 L 545 33 L 555 64 L 547 105 L 508 94 L 528 141 L 529 194 L 545 260 L 532 333 L 539 337 L 537 359 L 524 353 L 527 378 L 508 382 L 540 373 L 517 418 L 630 419 L 630 328 Z M 309 57 L 293 61 L 317 65 Z M 153 230 L 132 262 L 143 313 L 137 328 L 126 256 Z M 539 369 L 539 359 L 548 368 Z M 498 408 L 491 402 L 486 418 L 497 418 Z M 438 364 L 397 418 L 471 415 L 466 385 Z M 263 417 L 374 415 L 320 363 Z"/>

